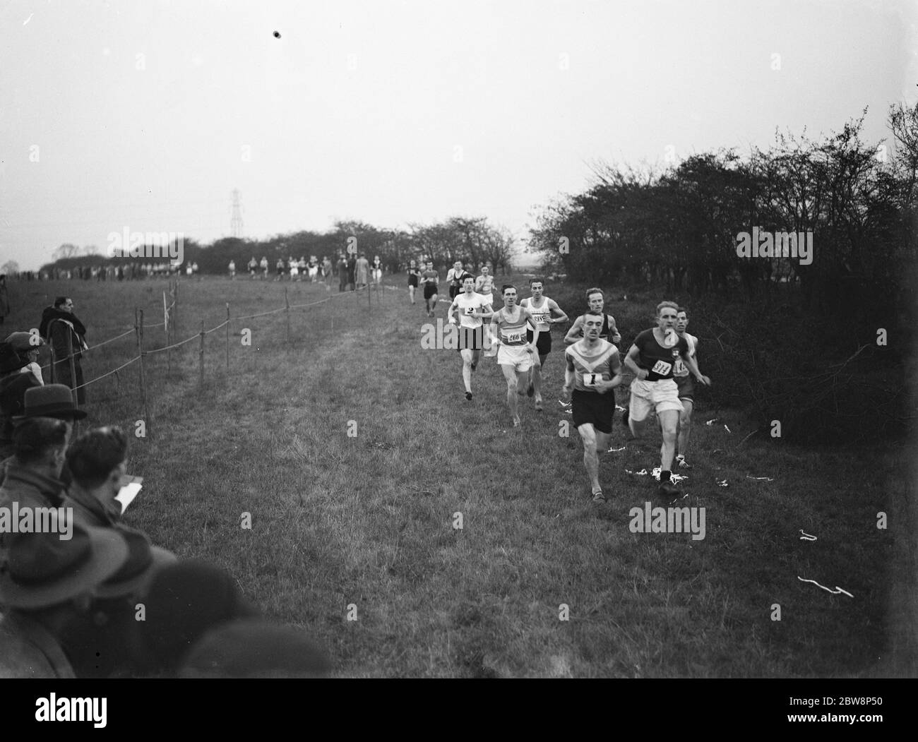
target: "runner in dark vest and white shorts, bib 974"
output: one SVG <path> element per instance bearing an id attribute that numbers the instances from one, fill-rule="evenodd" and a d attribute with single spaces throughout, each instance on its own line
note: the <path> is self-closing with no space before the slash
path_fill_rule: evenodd
<path id="1" fill-rule="evenodd" d="M 661 301 L 656 305 L 656 327 L 644 330 L 634 338 L 634 344 L 625 356 L 624 365 L 634 375 L 631 385 L 631 403 L 627 425 L 638 438 L 651 410 L 656 410 L 663 431 L 660 448 L 660 497 L 674 497 L 679 489 L 670 481 L 673 456 L 676 453 L 676 435 L 682 402 L 679 401 L 673 367 L 681 359 L 689 366 L 692 376 L 706 387 L 711 379 L 701 376 L 698 364 L 689 354 L 689 342 L 679 337 L 674 329 L 677 305 Z"/>

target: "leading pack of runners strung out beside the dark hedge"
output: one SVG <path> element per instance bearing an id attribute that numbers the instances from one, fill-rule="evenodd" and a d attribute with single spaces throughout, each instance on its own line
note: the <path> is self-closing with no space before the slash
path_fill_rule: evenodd
<path id="1" fill-rule="evenodd" d="M 452 302 L 446 315 L 450 324 L 458 316 L 458 349 L 462 356 L 465 399 L 472 399 L 472 374 L 487 347 L 507 381 L 507 404 L 514 427 L 521 426 L 520 399 L 534 397 L 534 409 L 543 410 L 543 367 L 552 350 L 551 326 L 569 321 L 554 299 L 543 294 L 541 278 L 529 281 L 531 296 L 519 300 L 517 287 L 505 284 L 496 311 L 494 278 L 487 266 L 482 275 L 466 272 L 456 263 L 447 274 Z M 439 275 L 433 263 L 409 266 L 412 304 L 419 282 L 424 285 L 428 316 L 439 300 Z M 694 407 L 695 382 L 710 386 L 711 379 L 698 366 L 698 338 L 689 334 L 689 312 L 672 301 L 656 307 L 655 327 L 639 332 L 621 358 L 617 343 L 621 332 L 615 318 L 605 312 L 601 289 L 587 291 L 588 310 L 577 317 L 565 334 L 565 384 L 562 404 L 570 407 L 572 421 L 584 447 L 584 467 L 592 499 L 606 500 L 599 483 L 599 455 L 610 445 L 616 411 L 613 389 L 621 385 L 622 371 L 633 374 L 630 400 L 621 420 L 634 439 L 646 432 L 655 413 L 663 437 L 660 449 L 659 495 L 679 494 L 672 482 L 672 467 L 690 468 L 686 461 Z"/>

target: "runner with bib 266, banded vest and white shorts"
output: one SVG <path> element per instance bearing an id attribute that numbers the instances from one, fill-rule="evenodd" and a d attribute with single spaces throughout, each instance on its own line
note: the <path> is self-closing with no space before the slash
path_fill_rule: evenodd
<path id="1" fill-rule="evenodd" d="M 527 373 L 536 354 L 536 343 L 539 341 L 539 327 L 527 309 L 516 305 L 517 290 L 515 286 L 504 284 L 504 306 L 498 309 L 491 318 L 487 329 L 491 342 L 498 345 L 498 364 L 507 379 L 507 406 L 513 416 L 513 427 L 520 427 L 518 397 L 525 394 Z M 526 342 L 526 323 L 535 328 L 531 343 Z"/>

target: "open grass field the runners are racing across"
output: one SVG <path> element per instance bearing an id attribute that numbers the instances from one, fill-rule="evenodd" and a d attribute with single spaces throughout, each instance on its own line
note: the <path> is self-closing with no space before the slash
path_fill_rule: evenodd
<path id="1" fill-rule="evenodd" d="M 14 283 L 6 328 L 36 326 L 66 293 L 93 345 L 127 330 L 135 306 L 162 321 L 165 286 Z M 282 307 L 285 287 L 291 304 L 329 297 L 309 285 L 183 281 L 176 339 L 202 320 L 218 325 L 227 301 L 233 316 Z M 168 376 L 164 354 L 147 356 L 149 434 L 129 454 L 145 483 L 128 522 L 179 556 L 227 568 L 265 613 L 328 646 L 344 677 L 915 674 L 904 448 L 744 441 L 749 422 L 702 393 L 679 504 L 706 509 L 706 537 L 632 534 L 630 509 L 659 503 L 651 478 L 624 469 L 659 466 L 659 437 L 627 443 L 616 424 L 612 447 L 626 450 L 600 461 L 612 497 L 589 501 L 579 436 L 559 434 L 570 419 L 556 401 L 561 327 L 545 411 L 525 400 L 514 430 L 494 360 L 466 402 L 458 354 L 420 347 L 420 296 L 411 307 L 400 279 L 380 294 L 368 306 L 335 287 L 328 302 L 291 311 L 290 343 L 284 312 L 231 322 L 229 370 L 224 331 L 207 335 L 204 388 L 197 340 L 174 352 Z M 546 294 L 579 313 L 573 289 Z M 632 337 L 650 326 L 632 325 L 653 304 L 607 309 Z M 145 344 L 162 346 L 162 329 Z M 90 352 L 85 377 L 135 350 L 128 336 Z M 135 429 L 137 364 L 87 394 L 89 422 Z M 801 529 L 818 540 L 801 540 Z M 569 620 L 559 620 L 562 604 Z"/>

